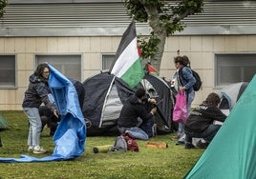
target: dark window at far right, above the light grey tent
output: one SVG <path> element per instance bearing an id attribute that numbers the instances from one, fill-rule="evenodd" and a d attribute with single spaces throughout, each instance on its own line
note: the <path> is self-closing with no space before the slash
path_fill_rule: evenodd
<path id="1" fill-rule="evenodd" d="M 215 86 L 249 82 L 256 73 L 256 54 L 216 54 Z"/>

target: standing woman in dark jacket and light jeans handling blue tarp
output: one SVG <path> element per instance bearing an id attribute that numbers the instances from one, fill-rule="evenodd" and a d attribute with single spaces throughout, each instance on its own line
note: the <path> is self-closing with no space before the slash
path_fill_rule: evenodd
<path id="1" fill-rule="evenodd" d="M 48 78 L 50 69 L 47 64 L 39 64 L 33 74 L 30 76 L 29 87 L 25 91 L 22 108 L 29 118 L 30 129 L 28 136 L 28 151 L 33 153 L 46 153 L 47 149 L 40 146 L 40 133 L 42 128 L 41 118 L 39 115 L 39 107 L 44 104 L 49 107 L 54 115 L 57 116 L 56 108 L 49 99 L 50 89 L 48 86 Z"/>

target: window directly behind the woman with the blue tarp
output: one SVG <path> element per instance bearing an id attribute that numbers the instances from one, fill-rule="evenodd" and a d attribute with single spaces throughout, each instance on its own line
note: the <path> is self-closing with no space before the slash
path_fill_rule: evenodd
<path id="1" fill-rule="evenodd" d="M 81 81 L 81 55 L 35 55 L 36 66 L 48 62 L 67 77 Z"/>

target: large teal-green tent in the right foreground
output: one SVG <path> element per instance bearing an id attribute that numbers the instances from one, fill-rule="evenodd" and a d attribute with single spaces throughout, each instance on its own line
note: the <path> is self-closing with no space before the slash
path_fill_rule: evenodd
<path id="1" fill-rule="evenodd" d="M 256 75 L 184 178 L 256 178 Z"/>

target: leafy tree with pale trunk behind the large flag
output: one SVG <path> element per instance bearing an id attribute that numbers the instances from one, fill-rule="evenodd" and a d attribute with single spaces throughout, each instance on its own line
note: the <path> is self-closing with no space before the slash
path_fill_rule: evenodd
<path id="1" fill-rule="evenodd" d="M 184 29 L 183 18 L 202 12 L 203 0 L 125 0 L 125 7 L 130 17 L 152 28 L 150 37 L 139 39 L 143 57 L 160 60 L 165 44 L 162 41 Z"/>

